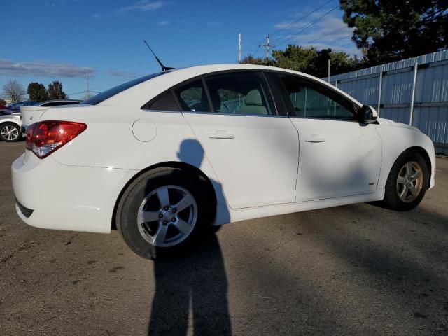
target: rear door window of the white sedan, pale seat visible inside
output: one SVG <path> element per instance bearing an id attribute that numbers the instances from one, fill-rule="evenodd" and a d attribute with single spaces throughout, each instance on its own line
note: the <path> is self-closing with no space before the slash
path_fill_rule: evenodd
<path id="1" fill-rule="evenodd" d="M 274 114 L 262 73 L 234 72 L 205 78 L 214 112 L 253 116 Z"/>

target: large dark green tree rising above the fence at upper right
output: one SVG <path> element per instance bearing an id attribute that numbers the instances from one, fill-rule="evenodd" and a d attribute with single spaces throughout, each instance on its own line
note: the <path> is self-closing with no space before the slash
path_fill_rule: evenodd
<path id="1" fill-rule="evenodd" d="M 340 0 L 344 22 L 369 65 L 448 46 L 447 0 Z"/>

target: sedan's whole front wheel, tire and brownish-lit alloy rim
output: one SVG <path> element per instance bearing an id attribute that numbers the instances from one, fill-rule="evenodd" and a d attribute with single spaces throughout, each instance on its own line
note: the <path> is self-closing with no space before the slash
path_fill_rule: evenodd
<path id="1" fill-rule="evenodd" d="M 386 182 L 384 204 L 389 209 L 414 209 L 426 193 L 429 171 L 420 153 L 405 151 L 395 161 Z"/>

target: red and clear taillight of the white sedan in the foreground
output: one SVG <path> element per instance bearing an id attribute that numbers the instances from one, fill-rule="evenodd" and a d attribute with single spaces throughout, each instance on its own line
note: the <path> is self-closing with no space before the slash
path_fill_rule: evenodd
<path id="1" fill-rule="evenodd" d="M 27 149 L 38 158 L 46 158 L 83 132 L 84 123 L 71 121 L 45 120 L 30 125 L 27 129 Z"/>

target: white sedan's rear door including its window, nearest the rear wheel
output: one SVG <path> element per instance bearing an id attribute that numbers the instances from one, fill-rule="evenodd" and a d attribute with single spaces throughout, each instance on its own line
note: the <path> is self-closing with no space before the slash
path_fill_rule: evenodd
<path id="1" fill-rule="evenodd" d="M 295 202 L 298 134 L 263 73 L 212 74 L 176 95 L 232 209 Z"/>

